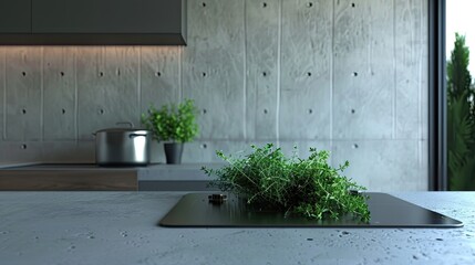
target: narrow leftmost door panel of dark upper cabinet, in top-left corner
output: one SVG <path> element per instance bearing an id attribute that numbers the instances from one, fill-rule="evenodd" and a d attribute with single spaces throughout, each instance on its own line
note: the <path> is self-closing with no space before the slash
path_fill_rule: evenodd
<path id="1" fill-rule="evenodd" d="M 31 0 L 0 0 L 0 33 L 31 32 Z"/>

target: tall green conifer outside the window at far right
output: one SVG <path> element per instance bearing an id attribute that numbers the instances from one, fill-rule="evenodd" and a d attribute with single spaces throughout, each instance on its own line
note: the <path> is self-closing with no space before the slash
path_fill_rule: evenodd
<path id="1" fill-rule="evenodd" d="M 465 36 L 455 34 L 447 62 L 447 173 L 450 190 L 475 190 L 475 112 L 469 51 Z"/>

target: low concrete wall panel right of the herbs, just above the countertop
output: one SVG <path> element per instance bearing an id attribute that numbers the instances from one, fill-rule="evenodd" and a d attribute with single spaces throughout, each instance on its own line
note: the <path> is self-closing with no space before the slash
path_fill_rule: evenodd
<path id="1" fill-rule="evenodd" d="M 419 140 L 333 141 L 333 166 L 350 162 L 344 176 L 370 191 L 426 190 Z"/>

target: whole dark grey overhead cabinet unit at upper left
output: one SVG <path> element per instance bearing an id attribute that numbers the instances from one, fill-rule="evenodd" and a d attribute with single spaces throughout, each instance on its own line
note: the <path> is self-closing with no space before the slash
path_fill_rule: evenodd
<path id="1" fill-rule="evenodd" d="M 0 0 L 0 45 L 186 45 L 186 0 Z"/>

